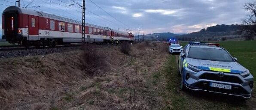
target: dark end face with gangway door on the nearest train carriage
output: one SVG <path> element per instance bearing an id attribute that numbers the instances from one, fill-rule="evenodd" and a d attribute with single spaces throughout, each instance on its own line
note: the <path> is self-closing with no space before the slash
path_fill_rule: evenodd
<path id="1" fill-rule="evenodd" d="M 9 43 L 16 43 L 18 35 L 18 13 L 6 12 L 4 15 L 4 35 Z"/>

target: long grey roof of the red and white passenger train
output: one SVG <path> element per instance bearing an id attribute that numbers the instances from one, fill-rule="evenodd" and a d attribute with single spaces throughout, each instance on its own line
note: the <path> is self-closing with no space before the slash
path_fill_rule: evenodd
<path id="1" fill-rule="evenodd" d="M 45 12 L 39 12 L 39 11 L 36 11 L 36 10 L 25 9 L 25 8 L 21 8 L 21 7 L 18 7 L 18 6 L 9 6 L 9 7 L 7 7 L 3 11 L 3 14 L 5 12 L 13 12 L 13 11 L 18 11 L 18 13 L 20 13 L 20 14 L 41 16 L 41 17 L 45 17 L 45 18 L 49 18 L 49 19 L 58 20 L 58 21 L 65 21 L 65 22 L 69 22 L 69 23 L 73 23 L 73 24 L 82 25 L 81 21 L 76 21 L 76 20 L 73 20 L 73 19 L 64 18 L 64 17 L 61 17 L 61 16 L 52 15 L 52 14 L 48 14 L 48 13 L 45 13 Z M 102 29 L 102 30 L 110 30 L 110 28 L 108 28 L 108 27 L 101 27 L 101 26 L 97 26 L 97 25 L 94 25 L 94 24 L 88 24 L 88 23 L 85 23 L 85 26 L 94 27 L 94 28 L 98 28 L 98 29 Z"/>

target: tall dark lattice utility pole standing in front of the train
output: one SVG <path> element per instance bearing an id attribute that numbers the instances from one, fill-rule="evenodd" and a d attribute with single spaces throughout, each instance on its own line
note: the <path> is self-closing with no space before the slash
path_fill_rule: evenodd
<path id="1" fill-rule="evenodd" d="M 82 42 L 85 42 L 85 0 L 82 0 Z"/>

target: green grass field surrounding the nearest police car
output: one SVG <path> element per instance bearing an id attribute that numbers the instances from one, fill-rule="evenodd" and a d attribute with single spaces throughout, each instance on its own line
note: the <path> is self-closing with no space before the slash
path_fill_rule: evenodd
<path id="1" fill-rule="evenodd" d="M 219 43 L 223 48 L 238 58 L 238 62 L 245 68 L 249 69 L 251 74 L 256 77 L 256 41 L 229 41 L 214 42 Z M 182 42 L 185 46 L 188 42 Z M 181 91 L 180 80 L 177 75 L 177 57 L 178 55 L 170 55 L 161 72 L 164 74 L 163 79 L 166 90 L 163 97 L 165 101 L 171 101 L 172 108 L 165 110 L 255 110 L 256 109 L 256 87 L 253 88 L 253 95 L 247 101 L 238 101 L 237 97 L 229 95 L 213 94 L 209 92 Z M 171 66 L 170 66 L 171 65 Z M 255 80 L 256 78 L 254 78 Z M 161 80 L 159 80 L 161 81 Z M 256 82 L 256 80 L 255 80 Z M 256 84 L 254 82 L 254 85 Z"/>

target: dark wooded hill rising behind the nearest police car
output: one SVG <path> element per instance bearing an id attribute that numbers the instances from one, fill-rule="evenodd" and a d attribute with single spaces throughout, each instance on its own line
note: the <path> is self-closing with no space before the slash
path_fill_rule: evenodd
<path id="1" fill-rule="evenodd" d="M 223 37 L 225 39 L 239 39 L 242 38 L 242 34 L 238 34 L 240 32 L 242 25 L 215 25 L 212 27 L 207 27 L 206 29 L 201 29 L 198 32 L 189 33 L 186 35 L 177 36 L 179 40 L 197 40 L 197 41 L 218 41 L 221 40 Z"/>

